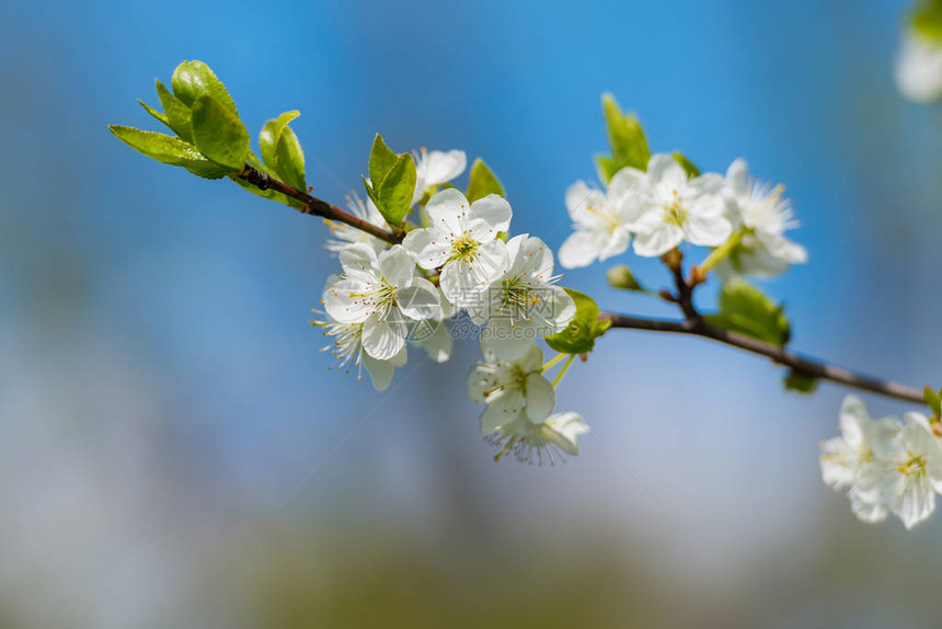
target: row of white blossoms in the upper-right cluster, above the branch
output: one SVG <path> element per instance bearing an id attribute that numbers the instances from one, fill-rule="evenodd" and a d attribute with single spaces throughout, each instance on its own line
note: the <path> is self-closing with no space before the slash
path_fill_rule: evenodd
<path id="1" fill-rule="evenodd" d="M 658 256 L 682 242 L 725 247 L 727 274 L 771 275 L 804 262 L 805 250 L 784 232 L 796 227 L 781 186 L 754 181 L 736 160 L 726 175 L 689 175 L 669 155 L 654 155 L 646 171 L 627 167 L 606 191 L 576 182 L 566 191 L 575 231 L 560 249 L 566 267 L 624 252 Z"/>

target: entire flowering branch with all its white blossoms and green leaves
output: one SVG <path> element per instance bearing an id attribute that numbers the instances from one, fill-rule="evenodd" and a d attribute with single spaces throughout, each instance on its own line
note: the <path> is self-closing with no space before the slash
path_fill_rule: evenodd
<path id="1" fill-rule="evenodd" d="M 942 0 L 921 0 L 908 25 L 900 88 L 917 100 L 942 95 L 937 57 Z M 915 48 L 912 46 L 916 46 Z M 172 91 L 157 82 L 164 111 L 141 103 L 174 135 L 112 126 L 135 150 L 205 179 L 228 178 L 244 190 L 322 218 L 337 274 L 321 294 L 312 322 L 330 344 L 334 367 L 364 370 L 378 390 L 420 348 L 432 361 L 451 357 L 452 343 L 474 338 L 481 358 L 467 378 L 483 404 L 480 430 L 496 448 L 530 462 L 555 464 L 579 453 L 589 427 L 565 409 L 558 387 L 574 364 L 587 363 L 610 329 L 696 335 L 750 352 L 785 368 L 786 390 L 811 393 L 819 381 L 929 407 L 872 420 L 848 397 L 841 436 L 822 444 L 824 481 L 846 491 L 864 522 L 889 514 L 910 528 L 927 519 L 942 490 L 942 391 L 923 391 L 803 356 L 790 350 L 784 306 L 751 278 L 769 278 L 807 261 L 792 240 L 799 226 L 780 184 L 750 175 L 743 159 L 724 173 L 703 172 L 680 152 L 652 153 L 641 123 L 602 96 L 609 152 L 595 158 L 598 183 L 577 181 L 563 193 L 573 231 L 559 251 L 564 267 L 619 259 L 606 278 L 614 289 L 667 301 L 679 320 L 604 312 L 588 295 L 560 286 L 550 247 L 515 235 L 503 185 L 480 159 L 468 168 L 460 150 L 397 153 L 376 136 L 363 174 L 365 195 L 346 210 L 313 195 L 305 152 L 289 111 L 259 135 L 259 155 L 236 103 L 200 61 L 184 61 Z M 468 172 L 467 184 L 459 180 Z M 667 287 L 648 288 L 623 263 L 629 252 L 659 259 Z M 701 285 L 713 284 L 717 306 L 702 311 Z M 544 351 L 552 352 L 544 359 Z M 578 361 L 576 361 L 578 358 Z"/>

